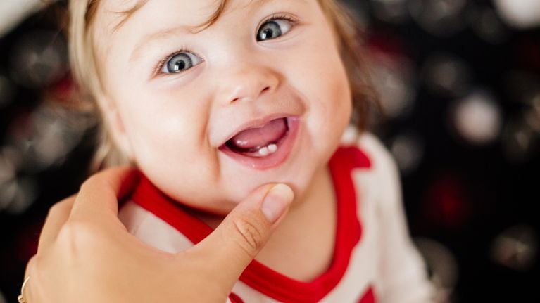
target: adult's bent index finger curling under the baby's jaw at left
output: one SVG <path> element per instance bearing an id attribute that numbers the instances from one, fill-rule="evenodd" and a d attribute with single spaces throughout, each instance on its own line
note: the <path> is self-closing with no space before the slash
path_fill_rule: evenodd
<path id="1" fill-rule="evenodd" d="M 130 167 L 105 169 L 82 184 L 73 204 L 70 219 L 94 215 L 118 215 L 118 200 L 130 192 L 139 174 Z"/>

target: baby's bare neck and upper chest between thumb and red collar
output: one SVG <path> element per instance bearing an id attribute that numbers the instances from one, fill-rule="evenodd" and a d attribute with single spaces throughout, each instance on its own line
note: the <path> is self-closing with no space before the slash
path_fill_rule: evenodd
<path id="1" fill-rule="evenodd" d="M 290 278 L 312 281 L 332 262 L 336 213 L 332 176 L 325 166 L 315 173 L 306 194 L 291 205 L 257 261 Z M 206 216 L 199 219 L 213 228 L 222 220 Z"/>

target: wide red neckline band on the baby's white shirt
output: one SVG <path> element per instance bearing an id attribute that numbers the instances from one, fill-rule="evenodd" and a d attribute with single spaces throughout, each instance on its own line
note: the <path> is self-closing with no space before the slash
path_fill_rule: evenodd
<path id="1" fill-rule="evenodd" d="M 370 166 L 369 158 L 356 147 L 338 148 L 329 161 L 337 196 L 337 231 L 334 257 L 325 273 L 311 282 L 302 282 L 253 260 L 240 276 L 240 281 L 282 302 L 318 302 L 325 297 L 344 276 L 353 247 L 362 233 L 356 212 L 357 198 L 351 171 Z M 212 228 L 188 214 L 183 205 L 161 193 L 144 176 L 135 188 L 132 200 L 175 227 L 192 243 L 199 243 L 212 232 Z"/>

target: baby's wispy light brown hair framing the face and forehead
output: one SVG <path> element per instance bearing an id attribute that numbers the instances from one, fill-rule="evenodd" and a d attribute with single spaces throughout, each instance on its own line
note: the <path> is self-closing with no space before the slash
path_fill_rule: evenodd
<path id="1" fill-rule="evenodd" d="M 124 15 L 122 23 L 137 11 L 148 0 L 138 1 L 137 4 L 128 11 L 121 12 Z M 220 0 L 220 5 L 215 13 L 208 18 L 201 27 L 208 27 L 215 22 L 225 9 L 227 0 Z M 356 124 L 359 131 L 366 127 L 366 116 L 372 105 L 379 107 L 377 94 L 370 83 L 369 68 L 365 60 L 365 54 L 361 47 L 358 25 L 353 17 L 341 6 L 337 0 L 318 0 L 322 11 L 324 11 L 330 21 L 334 31 L 337 33 L 339 47 L 341 48 L 341 59 L 349 77 L 353 99 L 352 122 Z M 96 103 L 102 97 L 103 86 L 99 77 L 98 65 L 96 65 L 94 36 L 92 25 L 95 20 L 99 0 L 72 0 L 70 1 L 70 27 L 69 27 L 69 49 L 73 76 L 77 82 L 79 98 L 82 102 L 89 102 L 94 105 L 96 115 L 99 115 L 99 105 Z M 130 161 L 123 155 L 120 149 L 115 146 L 113 138 L 109 133 L 107 120 L 103 115 L 99 115 L 101 123 L 99 125 L 99 146 L 94 155 L 92 170 L 96 171 L 103 167 L 112 165 L 126 165 Z"/>

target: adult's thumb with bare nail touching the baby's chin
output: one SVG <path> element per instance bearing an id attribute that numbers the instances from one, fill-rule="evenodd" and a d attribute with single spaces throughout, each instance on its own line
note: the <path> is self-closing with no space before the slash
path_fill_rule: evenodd
<path id="1" fill-rule="evenodd" d="M 284 217 L 293 198 L 291 188 L 284 184 L 258 188 L 196 245 L 194 252 L 206 258 L 219 283 L 232 288 Z"/>

